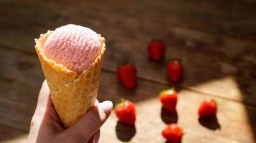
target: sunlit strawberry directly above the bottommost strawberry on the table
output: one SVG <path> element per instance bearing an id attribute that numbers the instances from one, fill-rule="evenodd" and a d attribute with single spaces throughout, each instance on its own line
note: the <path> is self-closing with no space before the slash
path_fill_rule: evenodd
<path id="1" fill-rule="evenodd" d="M 165 109 L 167 109 L 169 112 L 176 112 L 178 94 L 174 91 L 174 89 L 167 89 L 160 92 L 159 99 Z"/>

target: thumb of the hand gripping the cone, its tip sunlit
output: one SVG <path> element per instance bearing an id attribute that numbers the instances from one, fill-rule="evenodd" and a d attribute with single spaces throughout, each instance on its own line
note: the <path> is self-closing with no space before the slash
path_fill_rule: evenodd
<path id="1" fill-rule="evenodd" d="M 66 129 L 63 133 L 74 137 L 78 142 L 88 142 L 95 132 L 106 122 L 109 117 L 113 104 L 105 101 L 97 104 L 73 126 Z"/>

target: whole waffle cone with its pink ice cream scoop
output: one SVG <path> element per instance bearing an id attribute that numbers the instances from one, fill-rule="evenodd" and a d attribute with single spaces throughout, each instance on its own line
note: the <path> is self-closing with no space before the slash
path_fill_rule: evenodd
<path id="1" fill-rule="evenodd" d="M 52 103 L 65 128 L 95 105 L 106 50 L 104 41 L 91 29 L 73 24 L 35 39 Z"/>

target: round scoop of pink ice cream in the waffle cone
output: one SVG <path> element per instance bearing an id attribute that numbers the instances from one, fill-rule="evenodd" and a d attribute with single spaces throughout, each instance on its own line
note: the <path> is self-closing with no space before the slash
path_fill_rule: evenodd
<path id="1" fill-rule="evenodd" d="M 81 74 L 101 53 L 101 41 L 95 31 L 68 24 L 50 34 L 42 51 L 48 59 Z"/>

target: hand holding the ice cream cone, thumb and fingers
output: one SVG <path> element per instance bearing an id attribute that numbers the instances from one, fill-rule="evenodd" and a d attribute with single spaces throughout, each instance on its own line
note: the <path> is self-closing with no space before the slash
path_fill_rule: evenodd
<path id="1" fill-rule="evenodd" d="M 112 102 L 96 104 L 90 111 L 68 129 L 60 126 L 58 114 L 50 99 L 47 82 L 43 82 L 37 101 L 37 108 L 32 117 L 28 142 L 76 142 L 94 143 L 99 141 L 99 129 L 109 117 Z"/>

